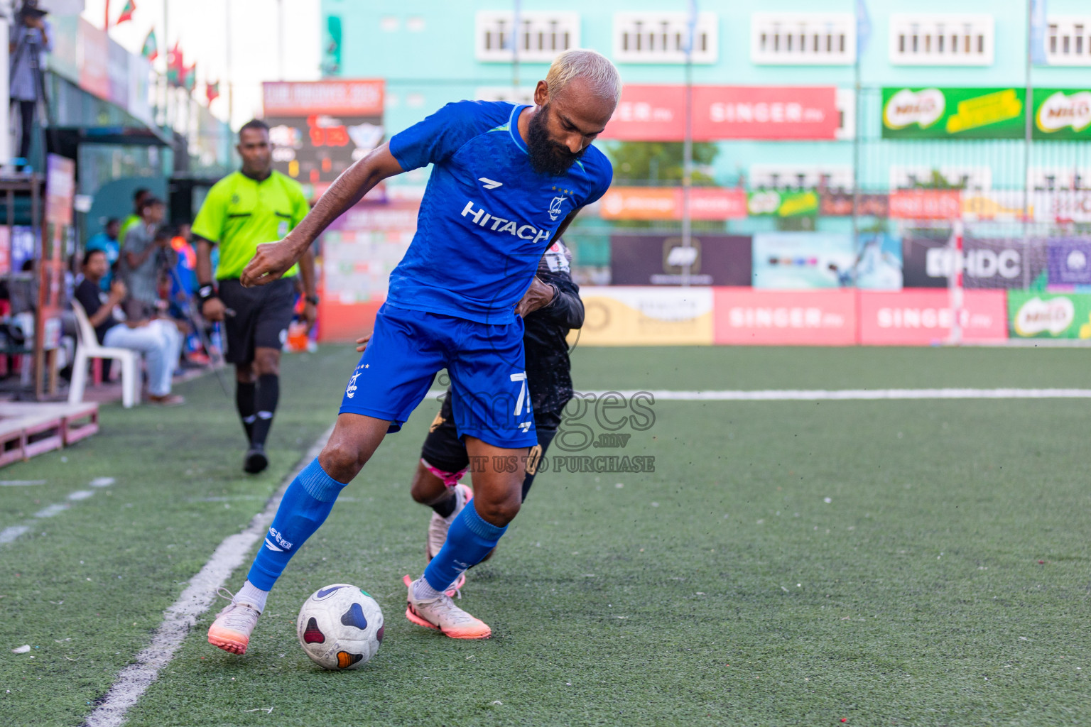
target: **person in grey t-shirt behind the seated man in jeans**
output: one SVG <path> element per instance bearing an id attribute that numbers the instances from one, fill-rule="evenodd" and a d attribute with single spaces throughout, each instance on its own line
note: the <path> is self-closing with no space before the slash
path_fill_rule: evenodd
<path id="1" fill-rule="evenodd" d="M 125 245 L 118 260 L 118 275 L 129 288 L 125 314 L 148 318 L 159 301 L 159 274 L 168 264 L 169 240 L 159 229 L 166 206 L 147 197 L 141 205 L 141 221 L 125 232 Z M 145 310 L 140 312 L 140 307 Z"/>

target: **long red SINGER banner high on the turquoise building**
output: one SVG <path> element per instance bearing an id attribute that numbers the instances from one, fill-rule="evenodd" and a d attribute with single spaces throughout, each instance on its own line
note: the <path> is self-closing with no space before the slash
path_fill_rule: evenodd
<path id="1" fill-rule="evenodd" d="M 694 86 L 693 138 L 832 140 L 840 114 L 834 86 Z M 685 87 L 626 85 L 600 138 L 680 142 Z"/>

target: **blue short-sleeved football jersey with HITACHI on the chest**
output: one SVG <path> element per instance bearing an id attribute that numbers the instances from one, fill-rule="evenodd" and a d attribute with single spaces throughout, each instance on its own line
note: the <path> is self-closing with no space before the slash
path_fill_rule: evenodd
<path id="1" fill-rule="evenodd" d="M 610 161 L 594 146 L 561 177 L 536 172 L 518 130 L 525 108 L 448 104 L 391 138 L 404 170 L 435 165 L 417 233 L 391 272 L 392 305 L 511 323 L 556 228 L 610 186 Z"/>

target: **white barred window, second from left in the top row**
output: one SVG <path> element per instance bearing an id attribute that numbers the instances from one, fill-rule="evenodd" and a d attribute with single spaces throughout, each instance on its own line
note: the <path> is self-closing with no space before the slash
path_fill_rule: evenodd
<path id="1" fill-rule="evenodd" d="M 614 13 L 613 59 L 619 63 L 685 63 L 687 25 L 688 13 L 684 12 Z M 697 13 L 693 62 L 716 63 L 719 52 L 719 15 L 715 12 Z"/>

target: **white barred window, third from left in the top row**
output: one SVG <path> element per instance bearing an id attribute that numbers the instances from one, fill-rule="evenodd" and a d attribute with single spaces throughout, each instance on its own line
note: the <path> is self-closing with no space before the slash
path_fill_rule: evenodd
<path id="1" fill-rule="evenodd" d="M 855 60 L 852 13 L 751 13 L 755 65 L 852 65 Z"/>

